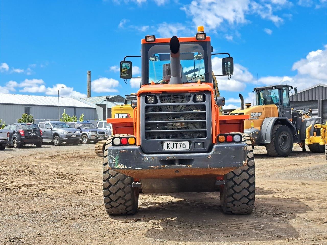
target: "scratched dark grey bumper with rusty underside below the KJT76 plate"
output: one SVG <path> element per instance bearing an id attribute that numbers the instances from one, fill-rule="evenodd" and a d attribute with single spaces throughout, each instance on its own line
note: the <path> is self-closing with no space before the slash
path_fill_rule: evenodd
<path id="1" fill-rule="evenodd" d="M 109 168 L 134 178 L 217 176 L 247 163 L 244 143 L 214 144 L 209 153 L 145 154 L 140 146 L 108 148 Z"/>

